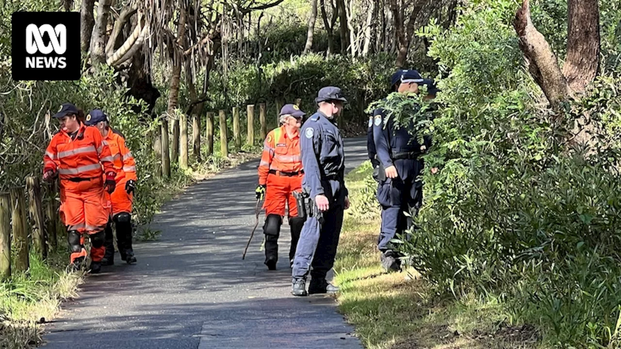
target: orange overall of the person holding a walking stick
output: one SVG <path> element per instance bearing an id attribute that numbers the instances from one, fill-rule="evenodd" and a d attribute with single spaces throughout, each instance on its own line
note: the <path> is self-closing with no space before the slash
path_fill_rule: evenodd
<path id="1" fill-rule="evenodd" d="M 294 191 L 302 189 L 302 158 L 299 135 L 289 138 L 284 126 L 271 130 L 263 144 L 259 163 L 259 184 L 266 185 L 265 214 L 284 216 L 285 204 L 289 217 L 297 216 Z"/>

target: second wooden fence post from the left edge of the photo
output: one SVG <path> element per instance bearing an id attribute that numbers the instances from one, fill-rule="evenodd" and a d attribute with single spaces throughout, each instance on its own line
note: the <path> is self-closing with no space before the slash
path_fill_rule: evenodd
<path id="1" fill-rule="evenodd" d="M 17 250 L 17 260 L 15 261 L 16 271 L 26 271 L 29 267 L 28 259 L 28 231 L 26 224 L 26 206 L 24 189 L 11 189 L 11 222 L 13 232 L 13 245 Z"/>

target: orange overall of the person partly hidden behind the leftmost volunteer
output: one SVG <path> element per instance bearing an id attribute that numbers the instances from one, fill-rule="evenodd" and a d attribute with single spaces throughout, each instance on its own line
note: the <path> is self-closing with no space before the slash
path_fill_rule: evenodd
<path id="1" fill-rule="evenodd" d="M 120 212 L 132 213 L 132 200 L 134 194 L 127 194 L 125 183 L 130 179 L 137 181 L 136 161 L 132 152 L 125 145 L 125 138 L 118 131 L 108 130 L 106 142 L 114 158 L 114 171 L 116 171 L 116 187 L 112 194 L 106 193 L 106 197 L 112 202 L 112 217 Z"/>

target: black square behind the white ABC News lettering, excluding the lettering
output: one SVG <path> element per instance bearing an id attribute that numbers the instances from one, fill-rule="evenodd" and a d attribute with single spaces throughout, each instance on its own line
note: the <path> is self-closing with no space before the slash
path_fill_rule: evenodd
<path id="1" fill-rule="evenodd" d="M 57 55 L 53 50 L 47 55 L 40 52 L 30 55 L 26 51 L 26 27 L 43 24 L 66 27 L 66 51 Z M 80 78 L 80 16 L 79 12 L 14 12 L 11 17 L 11 73 L 14 80 L 79 80 Z M 50 43 L 43 34 L 43 43 Z M 65 58 L 65 68 L 26 68 L 27 57 Z"/>

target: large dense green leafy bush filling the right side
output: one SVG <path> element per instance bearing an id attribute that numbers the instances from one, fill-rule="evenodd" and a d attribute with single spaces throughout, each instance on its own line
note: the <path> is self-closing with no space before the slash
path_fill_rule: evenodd
<path id="1" fill-rule="evenodd" d="M 540 326 L 545 346 L 614 347 L 621 79 L 599 78 L 564 116 L 589 116 L 599 143 L 564 142 L 568 131 L 531 97 L 540 90 L 522 70 L 514 11 L 513 1 L 479 2 L 448 32 L 419 32 L 433 40 L 446 92 L 425 206 L 401 250 L 439 293 L 498 297 L 512 322 Z"/>

